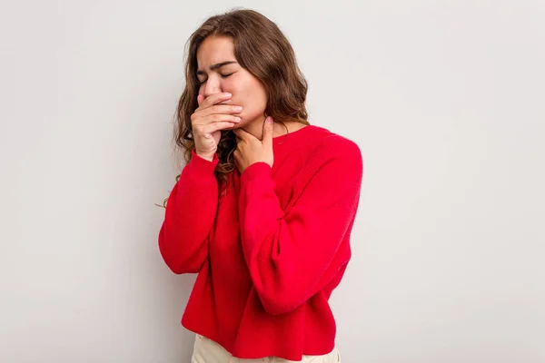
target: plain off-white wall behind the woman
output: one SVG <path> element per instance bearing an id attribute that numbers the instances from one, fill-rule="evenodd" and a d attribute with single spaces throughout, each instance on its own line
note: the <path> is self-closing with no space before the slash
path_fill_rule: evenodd
<path id="1" fill-rule="evenodd" d="M 235 6 L 364 158 L 348 363 L 545 362 L 545 3 L 2 1 L 0 361 L 188 362 L 157 248 L 185 42 Z"/>

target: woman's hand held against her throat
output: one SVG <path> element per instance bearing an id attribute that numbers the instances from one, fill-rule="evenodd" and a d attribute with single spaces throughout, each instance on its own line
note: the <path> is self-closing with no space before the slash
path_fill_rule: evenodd
<path id="1" fill-rule="evenodd" d="M 233 152 L 234 164 L 241 174 L 256 162 L 266 162 L 272 167 L 274 162 L 272 156 L 273 127 L 272 117 L 267 117 L 263 123 L 262 141 L 243 129 L 233 130 L 237 138 L 237 147 Z"/>

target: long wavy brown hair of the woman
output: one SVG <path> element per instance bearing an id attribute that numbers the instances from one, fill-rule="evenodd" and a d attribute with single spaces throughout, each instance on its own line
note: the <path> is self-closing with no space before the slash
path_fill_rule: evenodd
<path id="1" fill-rule="evenodd" d="M 186 44 L 186 83 L 178 103 L 174 130 L 176 145 L 182 149 L 185 162 L 191 161 L 195 148 L 191 115 L 198 107 L 197 50 L 209 36 L 233 39 L 237 62 L 263 83 L 267 94 L 266 115 L 278 123 L 309 124 L 305 106 L 308 84 L 296 63 L 292 45 L 279 27 L 253 10 L 239 9 L 214 15 L 193 32 Z M 235 150 L 233 131 L 222 131 L 217 147 L 219 163 L 214 171 L 222 185 L 234 170 Z"/>

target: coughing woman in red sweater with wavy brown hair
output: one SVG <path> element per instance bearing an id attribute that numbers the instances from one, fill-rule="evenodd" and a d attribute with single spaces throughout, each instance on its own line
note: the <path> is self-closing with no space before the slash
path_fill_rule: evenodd
<path id="1" fill-rule="evenodd" d="M 187 163 L 159 248 L 174 273 L 198 273 L 182 318 L 192 362 L 340 361 L 328 299 L 351 257 L 360 149 L 310 125 L 292 46 L 257 12 L 204 22 L 185 76 Z"/>

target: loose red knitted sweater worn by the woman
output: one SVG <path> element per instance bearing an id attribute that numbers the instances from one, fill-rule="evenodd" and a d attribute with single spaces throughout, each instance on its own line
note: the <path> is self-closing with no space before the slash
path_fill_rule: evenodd
<path id="1" fill-rule="evenodd" d="M 198 273 L 186 329 L 237 358 L 301 360 L 335 345 L 328 304 L 351 258 L 362 184 L 358 146 L 318 126 L 273 139 L 218 200 L 214 167 L 193 152 L 166 205 L 159 248 L 174 273 Z"/>

